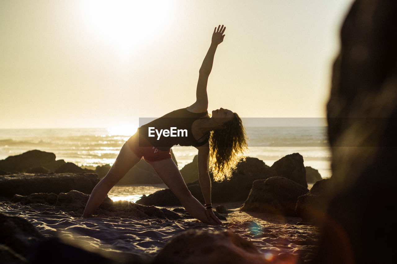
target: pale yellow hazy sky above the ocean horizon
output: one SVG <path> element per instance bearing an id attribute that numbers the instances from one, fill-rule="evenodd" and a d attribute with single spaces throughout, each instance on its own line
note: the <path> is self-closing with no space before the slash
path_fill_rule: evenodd
<path id="1" fill-rule="evenodd" d="M 208 112 L 326 117 L 352 0 L 0 0 L 0 128 L 137 126 L 195 102 L 226 26 Z"/>

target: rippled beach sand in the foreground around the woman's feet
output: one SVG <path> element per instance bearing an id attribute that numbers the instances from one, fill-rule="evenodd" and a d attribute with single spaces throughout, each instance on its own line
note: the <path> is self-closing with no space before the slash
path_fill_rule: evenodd
<path id="1" fill-rule="evenodd" d="M 175 235 L 189 230 L 233 231 L 248 239 L 272 260 L 280 254 L 310 259 L 316 249 L 318 228 L 299 223 L 301 218 L 239 211 L 243 202 L 224 203 L 224 226 L 211 226 L 195 219 L 133 220 L 110 216 L 73 217 L 67 212 L 47 210 L 40 204 L 0 202 L 4 213 L 27 219 L 44 236 L 57 236 L 72 245 L 99 253 L 137 254 L 152 259 Z M 214 205 L 216 206 L 216 205 Z M 166 207 L 174 209 L 176 207 Z"/>

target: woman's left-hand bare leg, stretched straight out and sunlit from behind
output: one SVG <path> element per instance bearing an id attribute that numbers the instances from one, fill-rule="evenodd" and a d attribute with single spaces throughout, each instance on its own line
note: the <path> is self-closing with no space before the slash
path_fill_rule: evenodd
<path id="1" fill-rule="evenodd" d="M 124 144 L 108 174 L 106 174 L 91 192 L 90 199 L 81 217 L 90 217 L 94 210 L 103 202 L 110 189 L 140 160 L 141 157 L 135 155 L 127 144 Z"/>

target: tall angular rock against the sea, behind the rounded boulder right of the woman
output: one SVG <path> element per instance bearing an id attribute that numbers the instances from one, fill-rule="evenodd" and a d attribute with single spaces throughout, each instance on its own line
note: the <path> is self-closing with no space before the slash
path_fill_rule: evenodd
<path id="1" fill-rule="evenodd" d="M 276 170 L 277 176 L 285 177 L 307 187 L 303 157 L 299 153 L 293 153 L 279 159 L 271 168 Z"/>

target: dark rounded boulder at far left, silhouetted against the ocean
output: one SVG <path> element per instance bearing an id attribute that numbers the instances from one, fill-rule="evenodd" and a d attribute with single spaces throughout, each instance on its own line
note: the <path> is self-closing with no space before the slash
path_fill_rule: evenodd
<path id="1" fill-rule="evenodd" d="M 64 163 L 64 160 L 56 161 L 54 153 L 35 149 L 0 160 L 0 170 L 15 173 L 25 172 L 31 168 L 41 166 L 50 171 L 54 171 Z"/>

